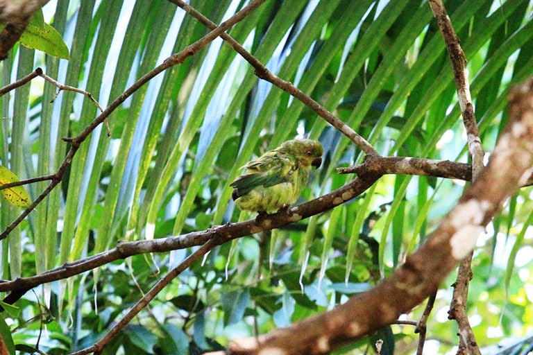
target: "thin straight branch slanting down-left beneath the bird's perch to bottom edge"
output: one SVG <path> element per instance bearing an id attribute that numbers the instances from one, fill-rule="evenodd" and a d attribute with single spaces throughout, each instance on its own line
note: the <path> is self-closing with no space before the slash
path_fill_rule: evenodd
<path id="1" fill-rule="evenodd" d="M 92 352 L 94 353 L 101 352 L 103 348 L 105 347 L 105 345 L 108 345 L 108 343 L 113 338 L 115 338 L 115 336 L 117 336 L 117 334 L 119 334 L 119 332 L 122 329 L 124 329 L 126 325 L 128 325 L 128 323 L 135 317 L 135 315 L 137 315 L 137 313 L 142 311 L 142 309 L 144 309 L 144 307 L 146 307 L 151 302 L 151 300 L 153 300 L 154 297 L 157 296 L 158 293 L 160 293 L 160 291 L 162 291 L 164 287 L 170 284 L 170 282 L 173 279 L 175 279 L 178 275 L 180 275 L 180 273 L 183 272 L 183 270 L 186 270 L 187 268 L 189 268 L 189 266 L 191 266 L 192 263 L 194 263 L 194 261 L 203 257 L 205 253 L 212 250 L 212 248 L 214 248 L 215 246 L 217 246 L 217 242 L 214 239 L 211 239 L 210 241 L 202 245 L 201 248 L 199 248 L 198 250 L 190 254 L 189 257 L 187 257 L 187 259 L 185 259 L 182 263 L 180 263 L 180 265 L 176 266 L 176 268 L 173 268 L 172 270 L 170 270 L 167 273 L 167 275 L 164 275 L 164 277 L 160 279 L 151 288 L 151 290 L 146 293 L 146 295 L 144 295 L 140 300 L 138 300 L 137 303 L 135 303 L 135 305 L 128 311 L 128 313 L 126 313 L 126 315 L 124 315 L 124 317 L 121 318 L 119 322 L 117 322 L 113 327 L 111 327 L 111 329 L 108 331 L 108 333 L 105 334 L 105 336 L 103 336 L 103 338 L 101 338 L 99 341 L 94 343 L 94 345 L 87 347 L 83 350 L 80 350 L 78 352 L 74 352 L 71 355 L 85 355 L 85 354 L 90 354 Z"/>

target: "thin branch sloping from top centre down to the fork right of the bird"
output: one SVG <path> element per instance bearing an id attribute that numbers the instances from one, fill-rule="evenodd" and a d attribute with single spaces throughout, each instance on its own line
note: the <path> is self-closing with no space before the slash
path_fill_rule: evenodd
<path id="1" fill-rule="evenodd" d="M 195 8 L 192 6 L 187 5 L 185 1 L 183 0 L 169 0 L 172 3 L 175 3 L 180 8 L 183 8 L 186 12 L 189 13 L 189 15 L 192 15 L 192 17 L 198 19 L 198 21 L 201 21 L 202 24 L 207 26 L 210 29 L 213 29 L 217 26 L 217 24 L 214 24 L 210 19 L 205 17 L 201 14 L 201 12 L 198 12 Z M 321 116 L 325 121 L 328 121 L 330 125 L 337 128 L 337 130 L 340 130 L 346 137 L 348 137 L 353 143 L 355 143 L 356 146 L 361 148 L 361 150 L 364 151 L 367 155 L 378 155 L 378 152 L 375 151 L 373 146 L 369 144 L 366 139 L 361 137 L 355 130 L 350 128 L 346 123 L 341 121 L 335 114 L 332 114 L 328 110 L 325 109 L 322 105 L 314 101 L 309 95 L 302 92 L 300 89 L 295 87 L 292 83 L 289 81 L 283 80 L 282 78 L 279 78 L 276 76 L 276 74 L 272 73 L 265 67 L 257 58 L 255 58 L 250 52 L 246 51 L 244 47 L 239 44 L 239 42 L 235 41 L 230 35 L 227 33 L 221 33 L 220 37 L 228 42 L 230 46 L 232 46 L 237 53 L 242 55 L 244 60 L 251 64 L 251 66 L 255 69 L 255 75 L 258 78 L 261 78 L 263 80 L 267 80 L 269 83 L 272 83 L 273 85 L 276 85 L 280 89 L 284 90 L 285 92 L 288 92 L 295 98 L 298 98 L 302 103 L 307 105 L 307 107 L 310 107 L 316 114 Z"/>

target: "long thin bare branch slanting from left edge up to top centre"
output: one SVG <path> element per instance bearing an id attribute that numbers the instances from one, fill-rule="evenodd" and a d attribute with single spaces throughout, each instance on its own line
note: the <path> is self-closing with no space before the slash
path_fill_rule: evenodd
<path id="1" fill-rule="evenodd" d="M 260 6 L 262 3 L 264 3 L 266 0 L 253 0 L 250 3 L 248 3 L 247 6 L 242 8 L 239 12 L 237 12 L 235 15 L 230 17 L 227 21 L 224 21 L 220 26 L 217 28 L 214 28 L 213 31 L 208 33 L 207 35 L 201 37 L 200 40 L 197 40 L 193 44 L 190 44 L 189 46 L 185 47 L 183 51 L 180 51 L 179 53 L 175 53 L 171 55 L 169 58 L 164 60 L 162 64 L 158 65 L 158 67 L 155 67 L 148 73 L 146 73 L 142 78 L 139 78 L 133 85 L 131 85 L 128 89 L 126 89 L 125 92 L 119 95 L 119 97 L 115 98 L 115 101 L 113 101 L 99 116 L 97 116 L 91 123 L 89 123 L 82 132 L 71 139 L 71 148 L 68 151 L 67 155 L 63 159 L 61 165 L 58 168 L 58 171 L 56 171 L 56 176 L 59 180 L 52 180 L 52 182 L 49 184 L 42 193 L 37 196 L 35 201 L 24 209 L 22 214 L 20 214 L 17 219 L 15 219 L 8 227 L 6 227 L 6 230 L 3 230 L 0 234 L 0 240 L 5 239 L 8 234 L 19 225 L 19 223 L 30 214 L 33 209 L 46 197 L 49 195 L 49 193 L 59 184 L 59 182 L 62 180 L 63 174 L 65 174 L 65 171 L 67 171 L 67 168 L 70 166 L 72 159 L 74 158 L 74 155 L 80 148 L 80 144 L 87 139 L 87 137 L 92 133 L 92 131 L 100 125 L 105 119 L 108 118 L 108 116 L 119 107 L 124 101 L 126 101 L 126 98 L 131 96 L 134 92 L 139 89 L 139 87 L 142 87 L 142 85 L 146 84 L 157 76 L 162 71 L 168 69 L 169 67 L 172 67 L 176 64 L 182 63 L 185 59 L 189 58 L 191 55 L 194 55 L 196 52 L 198 52 L 200 49 L 203 49 L 204 46 L 212 42 L 215 38 L 217 38 L 223 31 L 226 31 L 231 26 L 235 25 L 238 21 L 241 21 L 250 14 L 257 6 Z"/>

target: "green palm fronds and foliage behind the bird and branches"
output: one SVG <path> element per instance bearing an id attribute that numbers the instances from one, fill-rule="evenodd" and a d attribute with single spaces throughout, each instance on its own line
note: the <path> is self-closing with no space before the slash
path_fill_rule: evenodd
<path id="1" fill-rule="evenodd" d="M 220 22 L 246 1 L 192 0 Z M 507 120 L 512 83 L 533 73 L 531 1 L 445 1 L 468 58 L 475 114 L 490 151 Z M 69 60 L 15 48 L 1 86 L 36 67 L 86 89 L 100 105 L 208 30 L 167 1 L 51 1 L 44 19 Z M 278 76 L 321 102 L 383 155 L 466 162 L 452 71 L 428 3 L 268 0 L 230 35 Z M 33 80 L 0 101 L 0 159 L 19 178 L 53 173 L 72 137 L 94 119 L 85 96 Z M 239 167 L 295 136 L 320 139 L 325 164 L 302 200 L 351 177 L 335 168 L 361 152 L 310 109 L 269 83 L 221 40 L 137 91 L 92 133 L 66 178 L 1 241 L 3 279 L 31 276 L 106 250 L 118 240 L 160 238 L 248 218 L 230 202 Z M 46 183 L 32 184 L 35 196 Z M 424 241 L 464 182 L 387 175 L 364 196 L 295 225 L 234 241 L 184 272 L 130 324 L 108 354 L 217 349 L 229 338 L 307 318 L 387 276 Z M 511 198 L 475 250 L 468 310 L 481 346 L 532 332 L 530 188 Z M 6 227 L 20 210 L 1 202 Z M 28 293 L 7 318 L 15 343 L 64 354 L 91 345 L 142 292 L 189 251 L 137 256 Z M 428 353 L 457 343 L 447 313 L 452 275 L 428 323 Z M 303 291 L 303 292 L 302 292 Z M 417 320 L 421 310 L 407 318 Z M 28 322 L 29 320 L 29 322 Z M 376 335 L 414 352 L 414 327 Z M 373 343 L 375 340 L 370 340 Z M 369 340 L 341 352 L 364 352 Z"/>

